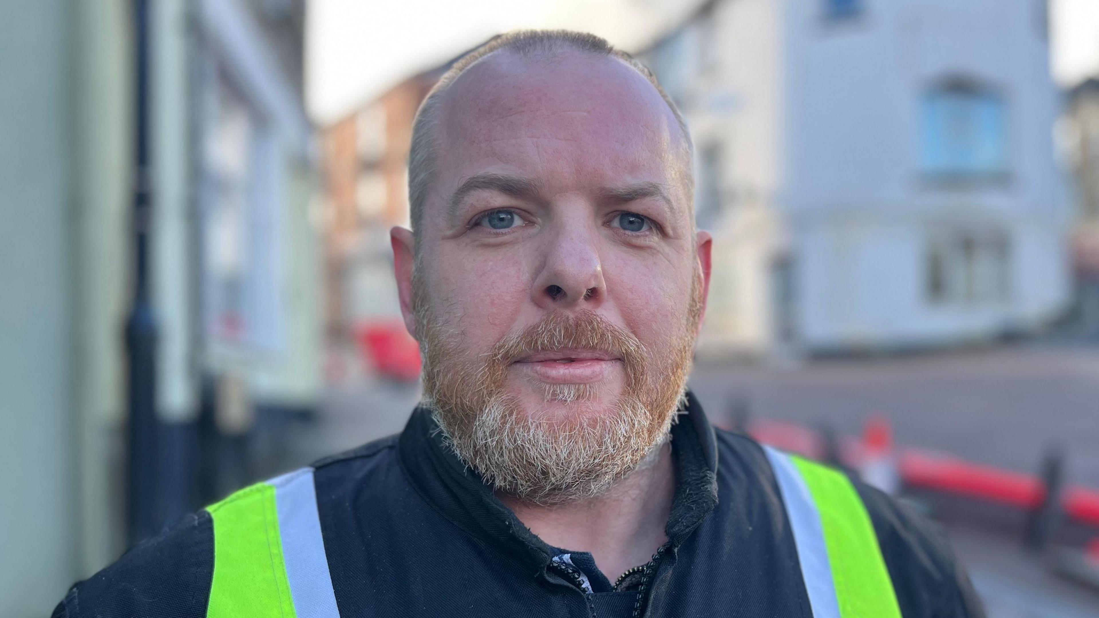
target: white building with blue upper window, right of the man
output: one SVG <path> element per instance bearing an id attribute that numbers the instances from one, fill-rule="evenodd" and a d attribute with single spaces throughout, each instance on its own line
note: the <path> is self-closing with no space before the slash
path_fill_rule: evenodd
<path id="1" fill-rule="evenodd" d="M 906 349 L 1069 294 L 1043 0 L 715 0 L 642 54 L 715 236 L 703 350 Z"/>

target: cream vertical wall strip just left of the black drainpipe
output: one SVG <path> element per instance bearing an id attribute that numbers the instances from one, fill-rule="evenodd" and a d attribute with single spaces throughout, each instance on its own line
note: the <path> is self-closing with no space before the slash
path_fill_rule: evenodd
<path id="1" fill-rule="evenodd" d="M 79 559 L 73 578 L 118 556 L 122 530 L 121 430 L 125 418 L 122 333 L 127 272 L 133 133 L 131 3 L 70 8 L 70 120 L 75 428 Z M 71 582 L 67 582 L 69 584 Z"/>

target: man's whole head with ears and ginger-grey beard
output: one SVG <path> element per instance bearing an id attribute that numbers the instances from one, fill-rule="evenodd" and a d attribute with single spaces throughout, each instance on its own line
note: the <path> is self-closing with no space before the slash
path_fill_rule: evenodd
<path id="1" fill-rule="evenodd" d="M 675 106 L 598 37 L 507 35 L 421 107 L 409 184 L 393 274 L 455 452 L 517 496 L 604 490 L 667 435 L 706 308 Z"/>

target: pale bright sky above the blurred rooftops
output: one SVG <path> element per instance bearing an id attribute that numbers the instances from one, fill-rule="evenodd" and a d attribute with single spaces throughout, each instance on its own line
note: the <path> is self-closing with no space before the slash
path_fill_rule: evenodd
<path id="1" fill-rule="evenodd" d="M 1050 2 L 1054 78 L 1072 86 L 1099 75 L 1099 0 Z M 307 107 L 315 122 L 330 124 L 404 77 L 517 27 L 585 30 L 636 49 L 698 4 L 700 0 L 310 0 Z"/>

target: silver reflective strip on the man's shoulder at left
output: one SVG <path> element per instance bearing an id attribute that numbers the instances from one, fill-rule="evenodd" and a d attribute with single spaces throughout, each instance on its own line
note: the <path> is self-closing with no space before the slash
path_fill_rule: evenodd
<path id="1" fill-rule="evenodd" d="M 298 618 L 340 618 L 317 511 L 313 468 L 268 481 L 275 487 L 282 562 Z"/>

